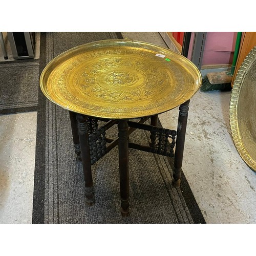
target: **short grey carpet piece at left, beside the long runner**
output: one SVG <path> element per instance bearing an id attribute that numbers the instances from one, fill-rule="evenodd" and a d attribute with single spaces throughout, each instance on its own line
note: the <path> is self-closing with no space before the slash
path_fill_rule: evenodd
<path id="1" fill-rule="evenodd" d="M 39 60 L 0 63 L 0 115 L 36 111 Z"/>

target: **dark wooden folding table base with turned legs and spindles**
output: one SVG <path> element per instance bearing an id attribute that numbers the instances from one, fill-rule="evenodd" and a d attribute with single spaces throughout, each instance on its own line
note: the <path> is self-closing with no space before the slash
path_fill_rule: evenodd
<path id="1" fill-rule="evenodd" d="M 183 151 L 185 143 L 187 116 L 188 116 L 188 104 L 189 100 L 180 105 L 179 117 L 178 117 L 178 127 L 177 127 L 177 137 L 176 131 L 171 131 L 168 129 L 162 129 L 157 127 L 158 116 L 151 117 L 151 125 L 143 124 L 147 118 L 142 118 L 140 122 L 135 123 L 129 120 L 110 120 L 105 125 L 101 127 L 100 132 L 97 133 L 97 127 L 94 129 L 90 127 L 92 131 L 89 133 L 88 127 L 88 117 L 70 112 L 71 129 L 73 135 L 73 142 L 75 147 L 75 155 L 78 160 L 82 161 L 82 169 L 85 182 L 86 190 L 86 203 L 92 206 L 95 202 L 94 198 L 94 188 L 92 180 L 92 169 L 91 165 L 96 162 L 102 156 L 98 158 L 94 157 L 92 160 L 92 152 L 90 152 L 90 143 L 92 143 L 92 137 L 90 136 L 101 136 L 104 134 L 104 130 L 108 130 L 109 127 L 114 124 L 118 124 L 118 138 L 111 139 L 105 138 L 102 142 L 102 147 L 104 143 L 109 142 L 109 146 L 103 148 L 104 154 L 108 153 L 114 146 L 118 144 L 119 148 L 119 179 L 120 179 L 120 199 L 121 199 L 121 215 L 126 217 L 129 215 L 129 147 L 136 148 L 137 150 L 142 150 L 146 152 L 157 153 L 165 156 L 174 156 L 174 170 L 173 170 L 173 185 L 176 187 L 180 186 L 181 170 L 182 170 L 182 160 Z M 151 132 L 149 146 L 143 146 L 136 143 L 129 142 L 129 134 L 131 134 L 136 129 L 143 129 Z M 91 134 L 92 133 L 92 134 Z M 160 135 L 161 133 L 161 135 Z M 154 147 L 157 145 L 156 139 L 157 135 L 159 148 L 156 150 Z M 165 136 L 165 137 L 164 137 Z M 171 151 L 167 152 L 166 147 L 164 149 L 160 148 L 160 144 L 167 141 L 167 138 L 171 137 L 173 143 L 171 143 Z M 175 154 L 173 152 L 173 147 L 175 145 L 176 137 L 176 150 Z M 167 142 L 166 142 L 167 143 Z M 160 150 L 161 149 L 161 150 Z M 172 153 L 173 152 L 173 153 Z"/>

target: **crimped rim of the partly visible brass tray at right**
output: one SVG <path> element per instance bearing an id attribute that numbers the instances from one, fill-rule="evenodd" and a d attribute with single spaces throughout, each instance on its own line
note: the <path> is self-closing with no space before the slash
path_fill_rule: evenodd
<path id="1" fill-rule="evenodd" d="M 236 79 L 234 80 L 231 97 L 230 97 L 230 104 L 229 104 L 229 122 L 231 128 L 231 134 L 233 138 L 234 145 L 237 148 L 239 155 L 245 161 L 245 163 L 256 172 L 256 160 L 252 159 L 249 153 L 246 151 L 246 148 L 243 144 L 243 140 L 240 136 L 239 126 L 238 126 L 238 99 L 240 95 L 240 88 L 245 77 L 246 72 L 248 71 L 249 64 L 252 63 L 251 60 L 256 58 L 256 46 L 251 49 L 248 55 L 245 57 L 242 65 L 240 66 L 238 73 L 236 75 Z"/>

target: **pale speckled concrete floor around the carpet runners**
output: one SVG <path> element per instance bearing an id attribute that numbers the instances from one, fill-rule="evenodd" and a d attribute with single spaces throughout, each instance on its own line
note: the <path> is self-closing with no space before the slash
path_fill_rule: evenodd
<path id="1" fill-rule="evenodd" d="M 122 35 L 165 47 L 158 32 Z M 206 223 L 256 223 L 256 173 L 232 141 L 230 94 L 199 91 L 191 99 L 183 172 Z M 177 116 L 174 109 L 159 118 L 176 130 Z M 0 139 L 0 223 L 31 223 L 36 112 L 0 116 Z"/>

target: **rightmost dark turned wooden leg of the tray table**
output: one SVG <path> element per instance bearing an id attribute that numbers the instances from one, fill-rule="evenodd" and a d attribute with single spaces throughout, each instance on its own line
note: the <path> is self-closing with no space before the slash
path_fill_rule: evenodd
<path id="1" fill-rule="evenodd" d="M 189 100 L 180 105 L 177 137 L 176 137 L 176 150 L 174 157 L 174 174 L 173 174 L 173 185 L 176 187 L 180 186 L 181 167 L 183 160 L 186 127 L 187 127 L 187 115 L 188 115 L 188 104 Z"/>

